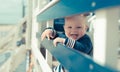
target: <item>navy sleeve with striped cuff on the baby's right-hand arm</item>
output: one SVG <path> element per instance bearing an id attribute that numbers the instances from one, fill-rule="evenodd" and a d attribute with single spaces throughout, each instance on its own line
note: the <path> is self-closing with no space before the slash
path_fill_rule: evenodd
<path id="1" fill-rule="evenodd" d="M 91 54 L 93 49 L 92 42 L 89 37 L 83 37 L 77 41 L 66 38 L 64 44 L 67 47 L 74 48 L 75 50 L 78 50 L 86 54 Z"/>

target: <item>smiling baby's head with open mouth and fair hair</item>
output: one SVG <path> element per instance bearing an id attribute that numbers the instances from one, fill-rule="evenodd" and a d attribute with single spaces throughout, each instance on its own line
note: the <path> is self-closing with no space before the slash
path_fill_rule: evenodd
<path id="1" fill-rule="evenodd" d="M 78 40 L 86 32 L 86 18 L 82 15 L 76 15 L 65 18 L 64 30 L 68 38 Z"/>

